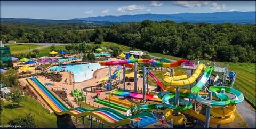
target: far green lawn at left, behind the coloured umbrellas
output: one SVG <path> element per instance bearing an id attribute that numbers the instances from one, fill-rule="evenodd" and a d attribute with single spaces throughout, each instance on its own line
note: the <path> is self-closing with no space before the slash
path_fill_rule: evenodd
<path id="1" fill-rule="evenodd" d="M 11 54 L 20 53 L 23 51 L 28 51 L 29 48 L 32 51 L 33 49 L 36 49 L 37 47 L 41 47 L 42 45 L 36 45 L 36 44 L 5 44 L 5 46 L 10 47 Z"/>

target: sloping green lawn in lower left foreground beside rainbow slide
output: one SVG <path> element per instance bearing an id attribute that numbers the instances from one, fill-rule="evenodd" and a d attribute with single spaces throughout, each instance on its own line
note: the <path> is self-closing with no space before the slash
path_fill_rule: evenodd
<path id="1" fill-rule="evenodd" d="M 34 115 L 35 124 L 38 128 L 57 128 L 57 117 L 52 114 L 48 114 L 47 111 L 41 106 L 41 104 L 26 96 L 26 101 L 21 102 L 21 108 L 13 108 L 11 106 L 11 101 L 5 101 L 5 108 L 1 114 L 1 125 L 8 125 L 7 123 L 17 118 L 20 115 L 25 115 L 31 113 Z M 63 124 L 63 123 L 62 123 Z M 63 124 L 65 125 L 65 124 Z"/>

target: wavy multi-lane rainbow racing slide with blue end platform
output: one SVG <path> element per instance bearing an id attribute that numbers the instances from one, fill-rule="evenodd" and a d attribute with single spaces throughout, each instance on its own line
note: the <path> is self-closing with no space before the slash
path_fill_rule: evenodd
<path id="1" fill-rule="evenodd" d="M 129 124 L 130 119 L 133 122 L 139 121 L 139 127 L 145 127 L 158 121 L 157 118 L 154 117 L 154 115 L 150 112 L 142 112 L 141 114 L 139 114 L 138 118 L 137 116 L 129 117 L 122 115 L 118 111 L 109 108 L 98 108 L 95 110 L 89 110 L 83 107 L 78 107 L 75 109 L 69 109 L 63 103 L 61 103 L 49 90 L 47 90 L 47 88 L 36 78 L 29 78 L 27 79 L 27 82 L 36 90 L 36 92 L 58 115 L 70 114 L 75 117 L 90 115 L 100 119 L 103 123 L 112 127 Z M 146 120 L 149 120 L 150 123 L 148 123 Z"/>

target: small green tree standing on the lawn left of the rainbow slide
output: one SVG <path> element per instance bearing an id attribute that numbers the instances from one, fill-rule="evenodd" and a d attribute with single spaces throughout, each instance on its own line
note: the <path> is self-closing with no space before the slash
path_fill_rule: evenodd
<path id="1" fill-rule="evenodd" d="M 7 100 L 11 100 L 13 103 L 18 104 L 18 108 L 20 107 L 20 102 L 24 101 L 25 98 L 22 96 L 22 91 L 18 88 L 14 88 L 10 93 L 7 94 Z"/>

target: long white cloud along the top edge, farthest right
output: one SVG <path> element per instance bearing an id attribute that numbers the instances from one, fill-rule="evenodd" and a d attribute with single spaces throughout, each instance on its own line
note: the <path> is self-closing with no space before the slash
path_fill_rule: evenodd
<path id="1" fill-rule="evenodd" d="M 220 10 L 225 9 L 225 4 L 219 5 L 216 2 L 212 1 L 174 1 L 173 5 L 181 6 L 181 7 L 187 7 L 187 8 L 193 8 L 193 7 L 206 7 L 210 6 L 212 10 Z"/>

